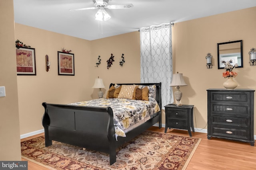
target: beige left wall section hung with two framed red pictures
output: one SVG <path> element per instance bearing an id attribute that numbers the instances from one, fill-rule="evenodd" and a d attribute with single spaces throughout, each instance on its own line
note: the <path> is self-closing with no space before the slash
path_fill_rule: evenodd
<path id="1" fill-rule="evenodd" d="M 89 100 L 90 41 L 15 23 L 16 39 L 35 48 L 36 76 L 17 76 L 20 134 L 42 129 L 42 102 L 68 104 Z M 74 53 L 75 76 L 58 76 L 57 51 Z M 46 72 L 45 55 L 51 62 Z"/>

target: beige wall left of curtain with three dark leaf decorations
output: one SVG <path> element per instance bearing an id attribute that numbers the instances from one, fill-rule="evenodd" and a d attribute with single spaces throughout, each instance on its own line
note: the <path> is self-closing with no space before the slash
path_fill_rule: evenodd
<path id="1" fill-rule="evenodd" d="M 115 56 L 113 65 L 107 69 L 107 60 L 111 53 Z M 122 54 L 125 63 L 119 65 Z M 96 66 L 100 55 L 101 64 Z M 104 97 L 110 83 L 140 82 L 140 33 L 138 31 L 92 41 L 92 82 L 98 76 L 103 79 Z M 93 85 L 93 84 L 92 84 Z M 98 89 L 94 90 L 92 98 L 97 98 Z"/>

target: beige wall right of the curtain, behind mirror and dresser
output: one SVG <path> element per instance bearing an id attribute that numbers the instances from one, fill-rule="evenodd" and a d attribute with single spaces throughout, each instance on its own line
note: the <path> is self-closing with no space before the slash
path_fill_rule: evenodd
<path id="1" fill-rule="evenodd" d="M 208 88 L 224 88 L 224 70 L 218 70 L 217 43 L 243 40 L 244 67 L 235 68 L 237 88 L 256 89 L 256 66 L 249 65 L 248 52 L 256 48 L 256 7 L 196 20 L 175 23 L 173 33 L 174 72 L 183 73 L 188 86 L 180 87 L 182 103 L 195 106 L 197 128 L 207 123 Z M 213 55 L 213 68 L 206 69 L 206 55 Z M 176 89 L 174 89 L 176 90 Z M 254 113 L 256 103 L 254 102 Z M 254 121 L 256 122 L 255 118 Z M 256 128 L 254 127 L 254 134 Z"/>

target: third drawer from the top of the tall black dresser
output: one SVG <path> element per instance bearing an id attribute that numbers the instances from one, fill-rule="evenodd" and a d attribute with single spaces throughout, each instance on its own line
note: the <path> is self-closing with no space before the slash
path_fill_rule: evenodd
<path id="1" fill-rule="evenodd" d="M 250 119 L 244 117 L 223 117 L 223 116 L 212 116 L 212 123 L 222 123 L 226 125 L 238 125 L 238 126 L 248 126 Z"/>

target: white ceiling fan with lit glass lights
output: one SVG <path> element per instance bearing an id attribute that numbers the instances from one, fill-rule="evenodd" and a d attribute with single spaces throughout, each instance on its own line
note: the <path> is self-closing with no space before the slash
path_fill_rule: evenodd
<path id="1" fill-rule="evenodd" d="M 117 4 L 117 5 L 108 5 L 108 0 L 92 0 L 95 7 L 88 8 L 79 8 L 70 11 L 80 11 L 80 10 L 93 10 L 98 9 L 98 12 L 95 14 L 95 20 L 106 21 L 111 18 L 111 16 L 106 12 L 104 8 L 112 9 L 128 9 L 132 8 L 132 4 Z"/>

